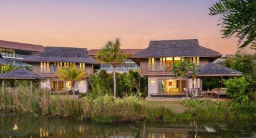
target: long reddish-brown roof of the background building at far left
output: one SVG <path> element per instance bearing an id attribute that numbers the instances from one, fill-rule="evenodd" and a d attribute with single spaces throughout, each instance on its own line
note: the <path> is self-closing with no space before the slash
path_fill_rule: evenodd
<path id="1" fill-rule="evenodd" d="M 6 49 L 17 49 L 17 50 L 29 50 L 35 52 L 42 52 L 44 50 L 44 46 L 42 45 L 33 45 L 28 43 L 19 43 L 19 42 L 8 42 L 4 40 L 0 40 L 0 47 Z"/>

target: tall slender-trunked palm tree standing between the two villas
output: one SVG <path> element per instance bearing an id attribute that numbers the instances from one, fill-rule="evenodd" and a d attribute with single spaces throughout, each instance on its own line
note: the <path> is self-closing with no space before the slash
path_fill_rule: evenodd
<path id="1" fill-rule="evenodd" d="M 120 46 L 120 39 L 116 38 L 115 42 L 107 42 L 105 47 L 95 55 L 98 61 L 111 63 L 113 66 L 114 96 L 116 96 L 116 66 L 122 64 L 128 57 L 121 51 Z"/>

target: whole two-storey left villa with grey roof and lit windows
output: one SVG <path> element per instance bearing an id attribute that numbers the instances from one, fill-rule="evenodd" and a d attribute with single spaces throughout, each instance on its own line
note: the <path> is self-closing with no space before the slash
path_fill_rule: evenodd
<path id="1" fill-rule="evenodd" d="M 75 84 L 75 90 L 79 93 L 88 91 L 88 82 L 86 78 L 93 73 L 97 61 L 88 56 L 87 49 L 71 47 L 45 47 L 40 53 L 23 59 L 25 63 L 33 65 L 33 72 L 42 75 L 46 80 L 41 82 L 41 88 L 49 89 L 54 92 L 70 91 L 70 82 L 62 81 L 56 76 L 56 72 L 63 66 L 75 65 L 86 71 L 84 80 Z"/>

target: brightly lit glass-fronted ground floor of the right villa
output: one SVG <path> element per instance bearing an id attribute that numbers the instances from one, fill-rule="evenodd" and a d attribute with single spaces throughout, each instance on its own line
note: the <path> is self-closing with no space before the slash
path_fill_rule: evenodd
<path id="1" fill-rule="evenodd" d="M 202 79 L 194 79 L 195 91 L 192 91 L 193 81 L 175 79 L 173 76 L 148 76 L 148 96 L 152 95 L 180 95 L 185 96 L 188 85 L 188 94 L 198 96 L 202 89 Z"/>

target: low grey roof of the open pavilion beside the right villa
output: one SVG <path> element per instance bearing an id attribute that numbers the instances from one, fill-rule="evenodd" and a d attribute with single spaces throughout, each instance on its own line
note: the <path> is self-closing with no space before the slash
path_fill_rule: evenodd
<path id="1" fill-rule="evenodd" d="M 225 66 L 218 65 L 216 63 L 208 63 L 205 66 L 202 66 L 197 70 L 198 76 L 206 76 L 206 75 L 219 75 L 219 76 L 238 76 L 243 75 L 242 72 L 238 72 L 236 70 L 232 70 L 231 68 L 227 68 Z"/>

